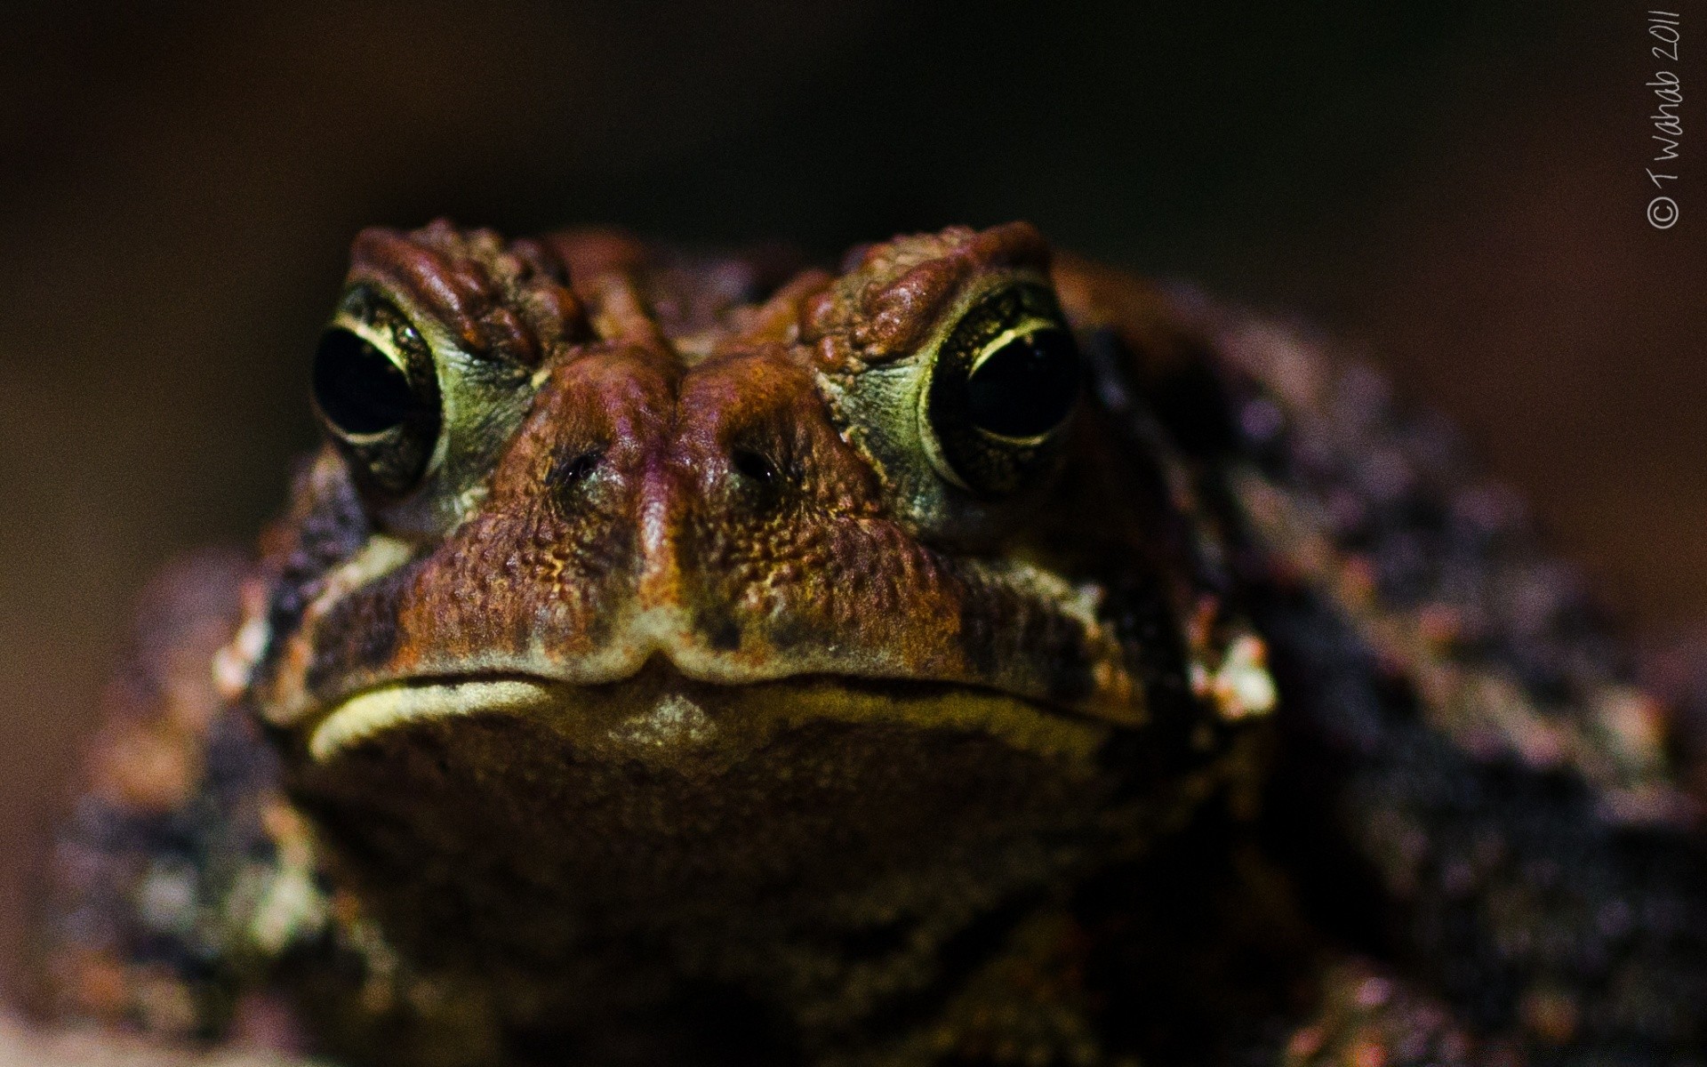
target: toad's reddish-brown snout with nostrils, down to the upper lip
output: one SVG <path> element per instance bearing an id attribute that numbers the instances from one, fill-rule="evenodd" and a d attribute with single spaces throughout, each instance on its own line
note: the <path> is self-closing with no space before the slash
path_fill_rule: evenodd
<path id="1" fill-rule="evenodd" d="M 589 686 L 654 659 L 714 685 L 954 683 L 1142 719 L 1096 591 L 918 541 L 780 350 L 568 359 L 478 514 L 396 560 L 326 584 L 283 719 L 411 679 Z"/>

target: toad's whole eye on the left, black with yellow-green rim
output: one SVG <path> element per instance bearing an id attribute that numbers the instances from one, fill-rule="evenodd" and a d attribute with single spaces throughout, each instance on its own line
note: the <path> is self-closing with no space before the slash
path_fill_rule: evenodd
<path id="1" fill-rule="evenodd" d="M 406 493 L 439 439 L 432 352 L 393 307 L 341 314 L 314 353 L 314 406 L 357 480 L 386 497 Z"/>

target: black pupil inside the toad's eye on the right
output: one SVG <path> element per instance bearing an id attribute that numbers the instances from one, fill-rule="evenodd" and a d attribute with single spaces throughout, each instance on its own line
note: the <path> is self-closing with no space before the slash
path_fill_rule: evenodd
<path id="1" fill-rule="evenodd" d="M 966 382 L 971 423 L 1002 437 L 1038 437 L 1079 399 L 1079 352 L 1065 329 L 1038 329 L 992 352 Z"/>

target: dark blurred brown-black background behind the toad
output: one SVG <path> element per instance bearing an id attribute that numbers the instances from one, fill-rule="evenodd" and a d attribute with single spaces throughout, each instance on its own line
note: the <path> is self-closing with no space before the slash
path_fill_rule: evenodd
<path id="1" fill-rule="evenodd" d="M 845 244 L 1029 219 L 1453 415 L 1610 604 L 1707 618 L 1707 10 L 0 2 L 0 980 L 128 604 L 312 442 L 350 236 Z M 1649 227 L 1642 82 L 1688 97 Z"/>

